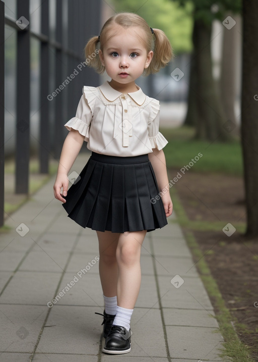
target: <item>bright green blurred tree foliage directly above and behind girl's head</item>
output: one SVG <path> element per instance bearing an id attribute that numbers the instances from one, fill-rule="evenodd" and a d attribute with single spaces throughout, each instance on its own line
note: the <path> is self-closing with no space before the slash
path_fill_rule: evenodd
<path id="1" fill-rule="evenodd" d="M 192 6 L 181 7 L 170 0 L 113 0 L 116 12 L 142 16 L 152 28 L 163 30 L 175 54 L 191 51 Z"/>

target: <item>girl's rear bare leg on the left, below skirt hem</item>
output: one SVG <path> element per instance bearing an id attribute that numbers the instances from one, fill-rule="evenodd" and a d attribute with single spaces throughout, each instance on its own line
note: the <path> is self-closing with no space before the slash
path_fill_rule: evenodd
<path id="1" fill-rule="evenodd" d="M 106 297 L 116 295 L 118 269 L 115 252 L 119 235 L 119 233 L 111 233 L 111 231 L 97 231 L 99 240 L 99 276 L 103 294 Z"/>

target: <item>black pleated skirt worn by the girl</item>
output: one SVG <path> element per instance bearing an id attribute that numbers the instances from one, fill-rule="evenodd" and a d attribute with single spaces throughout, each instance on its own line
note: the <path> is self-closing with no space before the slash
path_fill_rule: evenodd
<path id="1" fill-rule="evenodd" d="M 98 231 L 152 231 L 167 225 L 148 154 L 106 156 L 92 152 L 62 204 L 82 227 Z"/>

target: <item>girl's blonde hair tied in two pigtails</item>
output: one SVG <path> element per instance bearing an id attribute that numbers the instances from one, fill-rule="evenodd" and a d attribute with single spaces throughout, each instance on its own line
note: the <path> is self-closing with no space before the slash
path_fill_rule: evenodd
<path id="1" fill-rule="evenodd" d="M 125 29 L 131 26 L 138 26 L 144 30 L 147 53 L 153 50 L 152 61 L 149 67 L 144 70 L 144 75 L 157 73 L 160 68 L 164 68 L 173 58 L 171 44 L 162 30 L 153 29 L 152 34 L 151 28 L 141 16 L 134 13 L 118 13 L 109 18 L 103 25 L 100 35 L 93 36 L 85 46 L 86 64 L 94 68 L 96 72 L 102 74 L 105 71 L 105 67 L 101 64 L 98 55 L 98 49 L 103 49 L 103 44 L 110 38 L 107 36 L 108 30 L 115 24 Z"/>

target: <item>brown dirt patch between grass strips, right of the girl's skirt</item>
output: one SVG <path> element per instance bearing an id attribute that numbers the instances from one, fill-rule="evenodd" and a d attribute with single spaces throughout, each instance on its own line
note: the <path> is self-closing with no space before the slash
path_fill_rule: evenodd
<path id="1" fill-rule="evenodd" d="M 190 220 L 225 221 L 226 224 L 246 221 L 240 177 L 188 172 L 173 187 L 179 192 Z"/>

